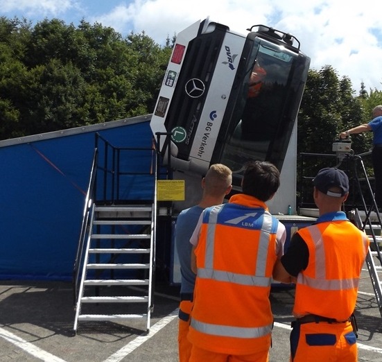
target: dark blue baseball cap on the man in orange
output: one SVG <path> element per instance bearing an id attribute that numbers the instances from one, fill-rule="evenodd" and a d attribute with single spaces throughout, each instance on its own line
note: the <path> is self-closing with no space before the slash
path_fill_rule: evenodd
<path id="1" fill-rule="evenodd" d="M 313 179 L 313 184 L 316 189 L 325 193 L 327 196 L 340 198 L 349 192 L 349 178 L 344 171 L 327 168 L 318 171 L 318 174 Z M 338 187 L 341 192 L 329 191 L 332 187 Z"/>

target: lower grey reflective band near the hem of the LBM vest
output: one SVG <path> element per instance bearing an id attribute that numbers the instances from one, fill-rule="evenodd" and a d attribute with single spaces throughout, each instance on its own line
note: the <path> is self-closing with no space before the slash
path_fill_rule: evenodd
<path id="1" fill-rule="evenodd" d="M 229 327 L 225 325 L 211 325 L 191 318 L 191 327 L 205 334 L 214 334 L 221 337 L 259 338 L 272 332 L 272 325 L 265 327 Z"/>

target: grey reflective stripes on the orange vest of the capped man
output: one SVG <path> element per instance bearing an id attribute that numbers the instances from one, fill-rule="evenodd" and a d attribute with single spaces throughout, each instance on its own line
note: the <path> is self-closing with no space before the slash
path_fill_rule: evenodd
<path id="1" fill-rule="evenodd" d="M 322 242 L 322 235 L 317 225 L 311 225 L 307 228 L 311 234 L 311 239 L 315 245 L 315 278 L 308 277 L 299 273 L 297 282 L 311 288 L 320 289 L 324 291 L 341 291 L 345 289 L 358 288 L 359 278 L 351 279 L 325 279 L 327 275 L 327 261 L 325 258 L 324 243 Z M 363 236 L 364 250 L 368 245 L 367 237 Z M 364 257 L 366 256 L 364 252 Z"/>

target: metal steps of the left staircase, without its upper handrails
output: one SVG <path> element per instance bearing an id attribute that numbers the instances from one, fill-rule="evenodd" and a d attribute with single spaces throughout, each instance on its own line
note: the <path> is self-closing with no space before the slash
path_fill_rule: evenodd
<path id="1" fill-rule="evenodd" d="M 154 214 L 153 205 L 93 205 L 75 330 L 81 321 L 142 318 L 150 329 Z M 126 226 L 138 230 L 130 234 Z"/>

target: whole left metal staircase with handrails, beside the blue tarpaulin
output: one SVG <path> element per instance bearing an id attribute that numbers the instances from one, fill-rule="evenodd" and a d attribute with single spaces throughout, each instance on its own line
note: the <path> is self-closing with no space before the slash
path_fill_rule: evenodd
<path id="1" fill-rule="evenodd" d="M 73 270 L 76 309 L 73 330 L 77 333 L 83 322 L 128 322 L 130 327 L 139 329 L 144 321 L 148 332 L 155 275 L 157 155 L 153 148 L 135 151 L 125 148 L 150 153 L 146 158 L 148 178 L 144 182 L 152 183 L 153 194 L 151 200 L 124 200 L 120 193 L 123 184 L 132 187 L 131 180 L 139 179 L 139 172 L 121 171 L 120 157 L 110 157 L 107 151 L 104 152 L 107 160 L 100 166 L 97 137 Z M 114 150 L 107 141 L 105 144 L 106 149 Z M 112 160 L 111 166 L 108 160 Z M 121 175 L 129 177 L 128 182 L 123 182 Z M 134 187 L 143 187 L 139 180 Z"/>

